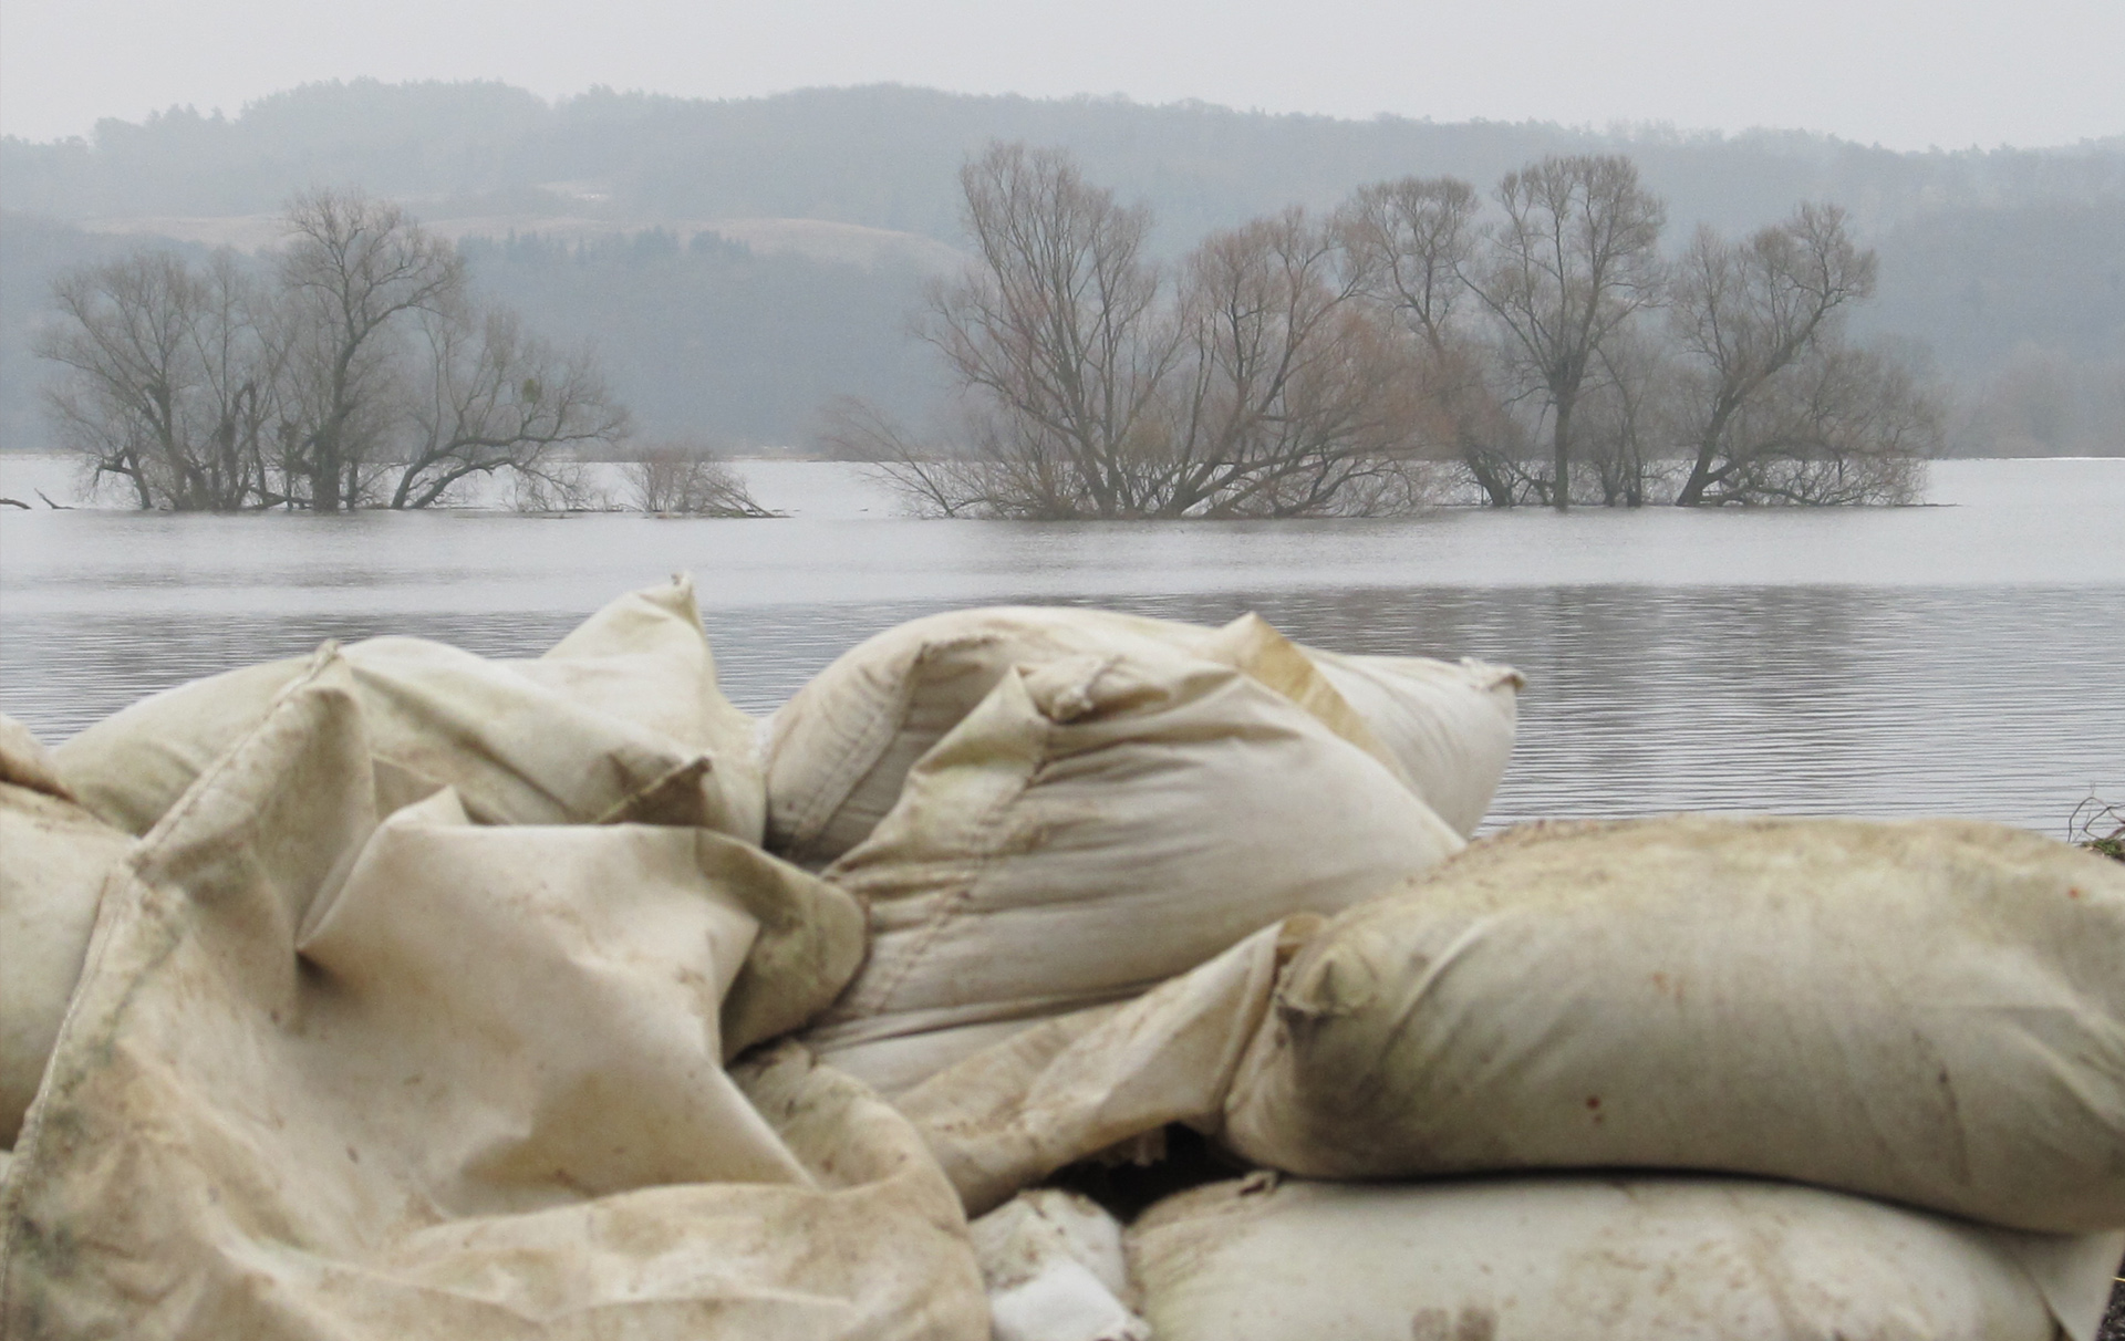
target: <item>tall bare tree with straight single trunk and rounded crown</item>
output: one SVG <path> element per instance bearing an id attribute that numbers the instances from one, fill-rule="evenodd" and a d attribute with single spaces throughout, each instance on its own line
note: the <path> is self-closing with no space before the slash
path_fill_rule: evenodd
<path id="1" fill-rule="evenodd" d="M 1572 412 L 1596 353 L 1660 300 L 1666 206 L 1621 155 L 1545 157 L 1507 172 L 1468 285 L 1504 332 L 1511 361 L 1547 397 L 1549 502 L 1570 506 Z"/>

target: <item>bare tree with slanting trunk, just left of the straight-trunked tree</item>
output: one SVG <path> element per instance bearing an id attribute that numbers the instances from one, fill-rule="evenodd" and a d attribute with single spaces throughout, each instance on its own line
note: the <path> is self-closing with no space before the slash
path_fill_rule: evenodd
<path id="1" fill-rule="evenodd" d="M 1468 319 L 1481 208 L 1458 176 L 1405 176 L 1358 189 L 1339 219 L 1362 291 L 1420 344 L 1417 378 L 1443 448 L 1483 502 L 1511 508 L 1526 474 L 1524 434 L 1494 385 L 1496 346 Z"/>

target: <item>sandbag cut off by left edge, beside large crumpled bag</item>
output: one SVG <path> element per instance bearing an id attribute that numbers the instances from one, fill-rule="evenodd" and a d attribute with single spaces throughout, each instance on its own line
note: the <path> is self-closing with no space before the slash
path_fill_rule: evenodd
<path id="1" fill-rule="evenodd" d="M 8 776 L 36 774 L 11 767 Z M 0 782 L 0 1145 L 15 1143 L 36 1097 L 89 952 L 104 878 L 130 848 L 130 835 L 72 801 Z"/>

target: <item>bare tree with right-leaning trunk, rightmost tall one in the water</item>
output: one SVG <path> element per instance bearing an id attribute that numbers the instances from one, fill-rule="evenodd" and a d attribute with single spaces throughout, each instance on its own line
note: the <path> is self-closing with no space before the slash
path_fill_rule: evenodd
<path id="1" fill-rule="evenodd" d="M 1836 206 L 1802 204 L 1785 223 L 1740 242 L 1698 230 L 1677 266 L 1670 312 L 1687 366 L 1692 455 L 1677 504 L 1738 497 L 1740 482 L 1764 478 L 1757 457 L 1789 451 L 1785 427 L 1764 427 L 1787 425 L 1787 414 L 1751 410 L 1779 397 L 1779 378 L 1838 366 L 1810 359 L 1836 344 L 1844 310 L 1872 291 L 1874 253 L 1853 244 Z"/>

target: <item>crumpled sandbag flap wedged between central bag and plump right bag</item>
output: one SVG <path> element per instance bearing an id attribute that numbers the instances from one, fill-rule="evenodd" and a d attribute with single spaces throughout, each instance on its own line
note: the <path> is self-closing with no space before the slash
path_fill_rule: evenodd
<path id="1" fill-rule="evenodd" d="M 1169 1122 L 1216 1126 L 1277 967 L 1320 922 L 1286 918 L 1135 1001 L 1024 1029 L 895 1094 L 892 1107 L 969 1213 Z"/>

